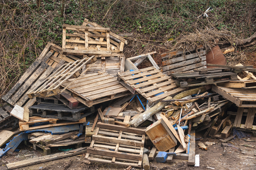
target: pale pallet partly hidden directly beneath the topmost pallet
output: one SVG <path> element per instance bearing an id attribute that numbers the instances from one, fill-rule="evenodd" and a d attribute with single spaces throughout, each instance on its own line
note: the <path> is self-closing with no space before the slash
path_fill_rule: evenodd
<path id="1" fill-rule="evenodd" d="M 104 57 L 101 57 L 101 59 L 97 60 L 97 62 L 86 72 L 86 74 L 106 72 L 116 77 L 116 74 L 118 74 L 118 72 L 123 73 L 125 57 L 124 54 L 118 55 L 104 55 Z M 89 67 L 91 65 L 92 64 L 86 64 L 86 67 Z M 86 67 L 84 67 L 83 69 L 86 69 Z"/>

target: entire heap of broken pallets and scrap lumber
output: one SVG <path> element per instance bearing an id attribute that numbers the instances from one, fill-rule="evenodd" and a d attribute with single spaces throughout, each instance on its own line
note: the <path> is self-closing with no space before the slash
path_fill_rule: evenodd
<path id="1" fill-rule="evenodd" d="M 0 158 L 27 141 L 43 161 L 86 153 L 89 161 L 148 169 L 156 154 L 169 152 L 156 161 L 186 159 L 194 165 L 197 132 L 224 141 L 236 130 L 256 132 L 252 66 L 217 65 L 209 60 L 214 51 L 207 54 L 200 46 L 163 53 L 159 68 L 155 51 L 125 59 L 124 44 L 110 28 L 87 19 L 82 26 L 63 24 L 62 48 L 48 43 L 1 96 L 8 104 L 0 108 Z M 152 67 L 138 69 L 145 59 Z M 239 77 L 242 71 L 248 76 Z M 49 156 L 63 146 L 76 150 Z"/>

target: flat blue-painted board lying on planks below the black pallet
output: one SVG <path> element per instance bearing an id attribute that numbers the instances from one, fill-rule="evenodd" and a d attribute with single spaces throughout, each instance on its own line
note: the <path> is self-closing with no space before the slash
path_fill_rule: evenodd
<path id="1" fill-rule="evenodd" d="M 57 134 L 68 133 L 70 131 L 75 131 L 75 130 L 79 130 L 78 124 L 46 127 L 46 128 L 41 128 L 37 130 L 27 130 L 25 131 L 25 133 L 45 132 L 45 133 L 52 133 L 52 135 L 57 135 Z"/>

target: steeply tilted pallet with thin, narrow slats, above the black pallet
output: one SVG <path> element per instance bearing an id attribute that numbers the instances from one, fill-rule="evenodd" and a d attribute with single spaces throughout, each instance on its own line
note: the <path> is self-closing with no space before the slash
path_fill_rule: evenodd
<path id="1" fill-rule="evenodd" d="M 89 63 L 91 61 L 96 61 L 96 57 L 92 56 L 89 59 L 81 59 L 77 60 L 75 62 L 69 62 L 66 64 L 61 65 L 54 73 L 51 74 L 51 76 L 47 77 L 43 82 L 41 82 L 39 85 L 37 85 L 35 88 L 32 88 L 27 95 L 30 99 L 33 99 L 37 96 L 43 96 L 43 97 L 50 97 L 54 95 L 61 94 L 63 91 L 66 90 L 66 88 L 72 84 L 70 82 L 68 85 L 66 85 L 66 88 L 63 88 L 60 90 L 61 83 L 65 82 L 66 80 L 76 77 L 80 77 L 86 71 L 89 69 L 85 69 L 84 71 L 81 71 L 83 65 L 86 65 L 86 63 Z M 81 74 L 80 74 L 81 72 Z M 73 76 L 74 75 L 74 76 Z"/>

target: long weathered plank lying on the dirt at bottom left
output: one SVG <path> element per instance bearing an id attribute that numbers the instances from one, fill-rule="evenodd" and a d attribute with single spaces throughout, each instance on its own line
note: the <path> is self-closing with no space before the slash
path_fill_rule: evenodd
<path id="1" fill-rule="evenodd" d="M 75 150 L 69 150 L 69 151 L 65 151 L 65 152 L 61 152 L 61 153 L 55 153 L 55 154 L 47 155 L 47 156 L 41 156 L 38 158 L 29 159 L 29 160 L 17 161 L 14 163 L 6 164 L 6 166 L 9 170 L 12 170 L 12 169 L 20 168 L 20 167 L 30 166 L 33 164 L 39 164 L 39 163 L 43 163 L 43 162 L 47 162 L 47 161 L 53 161 L 56 159 L 66 158 L 69 156 L 79 155 L 81 153 L 86 153 L 86 147 L 78 148 Z"/>

